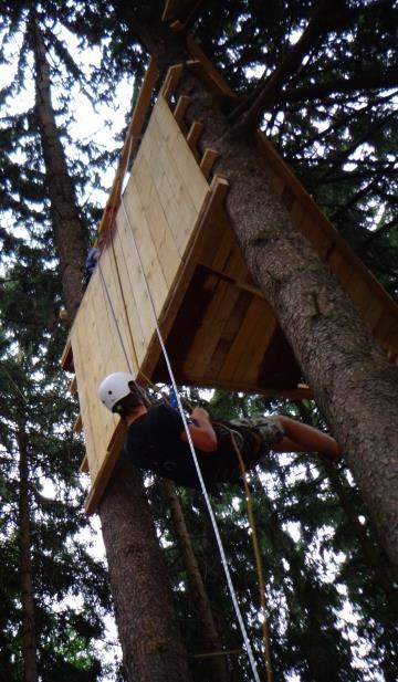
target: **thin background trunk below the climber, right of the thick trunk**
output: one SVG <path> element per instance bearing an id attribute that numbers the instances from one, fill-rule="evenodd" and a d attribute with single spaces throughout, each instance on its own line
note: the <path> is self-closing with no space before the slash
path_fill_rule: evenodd
<path id="1" fill-rule="evenodd" d="M 219 652 L 221 650 L 221 642 L 212 616 L 211 605 L 195 556 L 184 512 L 171 481 L 165 479 L 161 482 L 161 494 L 171 513 L 177 545 L 200 623 L 200 636 L 209 652 Z M 213 682 L 227 682 L 224 657 L 209 658 L 208 669 L 209 682 L 210 680 Z"/>

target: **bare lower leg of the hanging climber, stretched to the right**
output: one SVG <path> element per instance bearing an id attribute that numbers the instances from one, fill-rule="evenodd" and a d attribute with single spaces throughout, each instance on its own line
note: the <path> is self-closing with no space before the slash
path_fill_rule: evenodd
<path id="1" fill-rule="evenodd" d="M 273 419 L 283 426 L 285 437 L 272 445 L 272 450 L 276 452 L 322 452 L 333 460 L 342 457 L 342 448 L 332 436 L 283 415 L 276 415 Z"/>

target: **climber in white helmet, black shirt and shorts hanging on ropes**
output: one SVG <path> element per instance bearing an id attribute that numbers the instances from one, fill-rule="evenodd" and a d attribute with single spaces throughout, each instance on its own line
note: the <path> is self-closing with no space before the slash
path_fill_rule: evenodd
<path id="1" fill-rule="evenodd" d="M 133 375 L 116 371 L 98 387 L 103 405 L 121 416 L 127 427 L 124 451 L 145 471 L 171 479 L 179 485 L 200 490 L 188 436 L 178 410 L 165 403 L 150 405 Z M 282 415 L 261 419 L 210 421 L 207 410 L 195 407 L 188 429 L 200 471 L 210 490 L 218 483 L 239 483 L 244 470 L 253 469 L 270 450 L 320 452 L 338 460 L 342 449 L 322 431 Z"/>

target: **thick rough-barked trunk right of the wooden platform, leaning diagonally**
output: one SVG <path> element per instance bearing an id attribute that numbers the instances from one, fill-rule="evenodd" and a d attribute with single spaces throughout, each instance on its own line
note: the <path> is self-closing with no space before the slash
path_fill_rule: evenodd
<path id="1" fill-rule="evenodd" d="M 227 210 L 249 270 L 262 288 L 344 448 L 380 539 L 398 568 L 398 367 L 391 366 L 359 312 L 269 186 L 254 145 L 229 126 L 198 81 L 180 92 L 202 144 L 220 153 L 230 182 Z"/>

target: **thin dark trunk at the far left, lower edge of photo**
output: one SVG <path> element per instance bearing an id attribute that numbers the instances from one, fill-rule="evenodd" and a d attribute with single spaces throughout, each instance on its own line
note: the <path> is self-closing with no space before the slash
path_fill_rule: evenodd
<path id="1" fill-rule="evenodd" d="M 19 448 L 19 541 L 22 602 L 22 655 L 24 682 L 38 682 L 38 660 L 34 623 L 34 598 L 31 566 L 31 539 L 29 514 L 29 464 L 24 424 L 18 432 Z"/>

